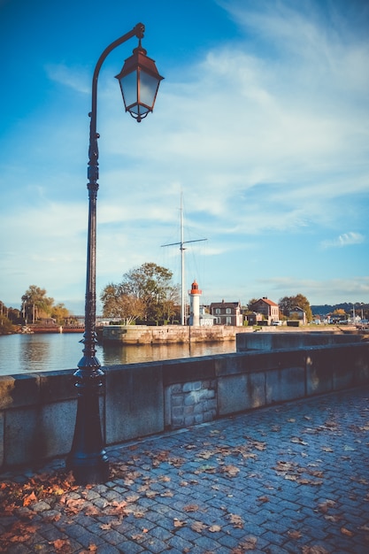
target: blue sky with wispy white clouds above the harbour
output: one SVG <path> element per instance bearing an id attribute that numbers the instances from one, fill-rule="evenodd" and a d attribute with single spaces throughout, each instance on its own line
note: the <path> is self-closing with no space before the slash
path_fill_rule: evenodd
<path id="1" fill-rule="evenodd" d="M 91 79 L 139 21 L 165 76 L 137 124 L 99 77 L 97 294 L 154 262 L 204 303 L 369 302 L 369 4 L 0 0 L 0 300 L 29 285 L 83 313 Z"/>

